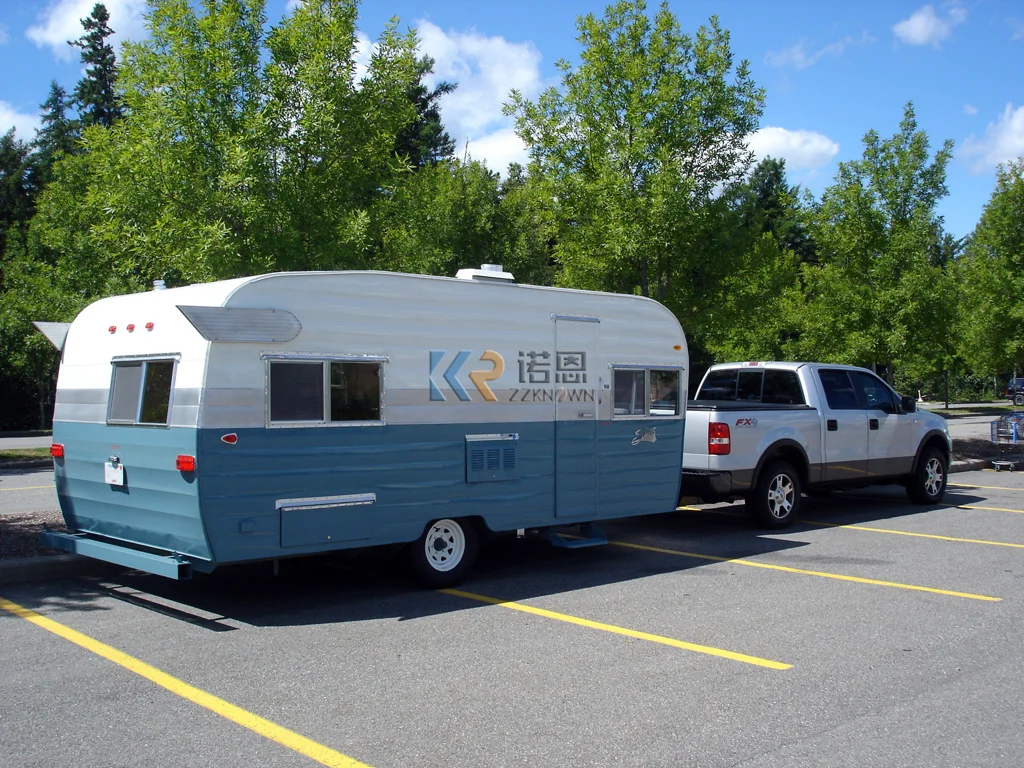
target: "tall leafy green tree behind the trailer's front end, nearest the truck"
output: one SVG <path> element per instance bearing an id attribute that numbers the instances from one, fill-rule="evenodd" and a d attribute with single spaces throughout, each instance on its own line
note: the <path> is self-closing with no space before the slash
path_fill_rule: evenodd
<path id="1" fill-rule="evenodd" d="M 667 3 L 651 18 L 631 0 L 578 29 L 561 90 L 505 108 L 555 211 L 558 280 L 657 298 L 689 332 L 725 267 L 703 250 L 708 211 L 751 162 L 764 91 L 715 17 L 690 37 Z"/>

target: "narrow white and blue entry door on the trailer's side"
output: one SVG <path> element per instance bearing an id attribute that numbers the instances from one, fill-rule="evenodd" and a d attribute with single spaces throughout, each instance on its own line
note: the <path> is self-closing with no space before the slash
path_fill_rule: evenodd
<path id="1" fill-rule="evenodd" d="M 600 321 L 555 315 L 555 516 L 597 516 L 597 362 Z"/>

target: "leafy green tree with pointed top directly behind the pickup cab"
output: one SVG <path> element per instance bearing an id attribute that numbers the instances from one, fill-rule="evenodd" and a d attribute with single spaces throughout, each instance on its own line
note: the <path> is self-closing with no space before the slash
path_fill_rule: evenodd
<path id="1" fill-rule="evenodd" d="M 820 266 L 803 270 L 804 304 L 793 356 L 874 366 L 893 380 L 899 364 L 921 379 L 954 353 L 955 291 L 935 263 L 946 194 L 947 140 L 929 158 L 912 104 L 899 131 L 869 131 L 860 160 L 841 163 L 815 216 Z"/>

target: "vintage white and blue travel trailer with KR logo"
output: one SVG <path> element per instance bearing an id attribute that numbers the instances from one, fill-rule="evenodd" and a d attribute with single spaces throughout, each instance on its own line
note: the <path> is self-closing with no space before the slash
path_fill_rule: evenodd
<path id="1" fill-rule="evenodd" d="M 409 544 L 440 586 L 484 531 L 678 505 L 686 339 L 643 297 L 284 272 L 102 299 L 57 341 L 57 549 L 185 579 Z"/>

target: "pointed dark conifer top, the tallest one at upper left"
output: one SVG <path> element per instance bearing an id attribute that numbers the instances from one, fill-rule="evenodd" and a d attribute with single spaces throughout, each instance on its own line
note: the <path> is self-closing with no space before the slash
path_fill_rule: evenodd
<path id="1" fill-rule="evenodd" d="M 83 125 L 102 125 L 110 128 L 121 117 L 114 85 L 117 82 L 117 59 L 114 46 L 106 39 L 114 34 L 108 26 L 111 14 L 106 6 L 96 3 L 92 12 L 82 19 L 85 34 L 78 40 L 69 40 L 69 45 L 82 49 L 82 63 L 85 76 L 75 88 L 79 120 Z"/>

